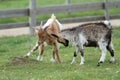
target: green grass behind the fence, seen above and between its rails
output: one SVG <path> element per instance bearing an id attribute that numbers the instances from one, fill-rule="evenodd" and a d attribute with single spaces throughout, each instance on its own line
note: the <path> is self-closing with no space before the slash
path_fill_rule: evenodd
<path id="1" fill-rule="evenodd" d="M 36 0 L 37 7 L 41 6 L 51 6 L 51 5 L 59 5 L 65 4 L 65 0 Z M 101 2 L 104 0 L 71 0 L 71 4 L 83 4 L 88 2 Z M 110 0 L 112 1 L 112 0 Z M 117 0 L 116 0 L 117 1 Z M 0 1 L 0 10 L 7 9 L 18 9 L 18 8 L 28 8 L 29 0 L 4 0 Z M 110 9 L 110 14 L 119 14 L 119 9 Z M 69 18 L 69 17 L 83 17 L 83 16 L 95 16 L 95 15 L 104 15 L 103 10 L 95 10 L 95 11 L 85 11 L 85 12 L 74 12 L 70 14 L 55 14 L 58 19 L 61 18 Z M 47 20 L 50 17 L 48 15 L 38 15 L 37 20 Z M 14 22 L 28 22 L 28 17 L 15 17 L 15 18 L 0 18 L 0 23 L 14 23 Z"/>

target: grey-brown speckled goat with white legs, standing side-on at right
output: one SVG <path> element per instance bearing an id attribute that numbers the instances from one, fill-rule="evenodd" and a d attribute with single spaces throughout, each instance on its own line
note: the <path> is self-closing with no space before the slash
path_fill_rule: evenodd
<path id="1" fill-rule="evenodd" d="M 98 66 L 104 62 L 106 57 L 106 49 L 111 54 L 110 62 L 114 62 L 114 48 L 112 44 L 112 26 L 109 21 L 86 23 L 71 29 L 65 29 L 61 32 L 64 38 L 68 39 L 76 47 L 71 64 L 75 63 L 78 52 L 81 53 L 81 62 L 84 64 L 83 47 L 99 47 L 101 57 Z"/>

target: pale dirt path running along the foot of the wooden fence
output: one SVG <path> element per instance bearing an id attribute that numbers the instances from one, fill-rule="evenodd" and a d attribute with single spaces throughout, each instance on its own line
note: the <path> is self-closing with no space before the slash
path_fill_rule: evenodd
<path id="1" fill-rule="evenodd" d="M 95 21 L 93 21 L 95 22 Z M 110 20 L 112 26 L 120 26 L 120 19 L 115 19 L 115 20 Z M 83 24 L 86 22 L 82 23 L 69 23 L 69 24 L 63 24 L 65 28 L 70 28 L 77 26 L 78 24 Z M 0 37 L 2 36 L 17 36 L 17 35 L 23 35 L 23 34 L 29 34 L 29 28 L 14 28 L 14 29 L 5 29 L 5 30 L 0 30 Z"/>

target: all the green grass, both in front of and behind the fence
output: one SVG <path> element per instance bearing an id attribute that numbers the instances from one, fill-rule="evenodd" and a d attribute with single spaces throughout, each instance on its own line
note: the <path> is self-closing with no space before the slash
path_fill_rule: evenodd
<path id="1" fill-rule="evenodd" d="M 71 3 L 86 3 L 103 0 L 71 0 Z M 111 0 L 112 1 L 112 0 Z M 117 1 L 117 0 L 116 0 Z M 65 4 L 65 0 L 37 0 L 37 6 Z M 29 0 L 0 0 L 0 10 L 28 8 Z M 110 14 L 120 13 L 119 9 L 109 10 Z M 86 15 L 103 15 L 104 11 L 86 11 L 71 14 L 56 14 L 58 19 L 65 17 L 80 17 Z M 39 15 L 38 20 L 48 19 L 50 15 Z M 0 18 L 0 23 L 28 21 L 28 17 Z M 71 65 L 74 47 L 60 47 L 60 58 L 62 63 L 50 62 L 52 48 L 45 47 L 42 62 L 36 60 L 38 51 L 34 52 L 23 63 L 13 62 L 15 57 L 22 57 L 35 44 L 36 36 L 0 37 L 0 80 L 119 80 L 120 79 L 120 26 L 113 28 L 113 44 L 115 48 L 116 61 L 108 62 L 110 55 L 107 53 L 106 61 L 99 67 L 97 62 L 100 58 L 98 48 L 85 48 L 85 64 L 79 65 L 80 55 L 77 63 Z"/>

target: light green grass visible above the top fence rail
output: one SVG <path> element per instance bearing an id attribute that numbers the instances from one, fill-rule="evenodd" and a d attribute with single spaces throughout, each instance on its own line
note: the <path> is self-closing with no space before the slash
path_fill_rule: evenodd
<path id="1" fill-rule="evenodd" d="M 87 3 L 87 2 L 100 2 L 104 0 L 71 0 L 71 3 Z M 37 6 L 50 6 L 65 4 L 66 0 L 36 0 Z M 19 3 L 19 4 L 18 4 Z M 4 0 L 0 1 L 0 9 L 16 9 L 16 8 L 28 8 L 29 0 Z"/>

